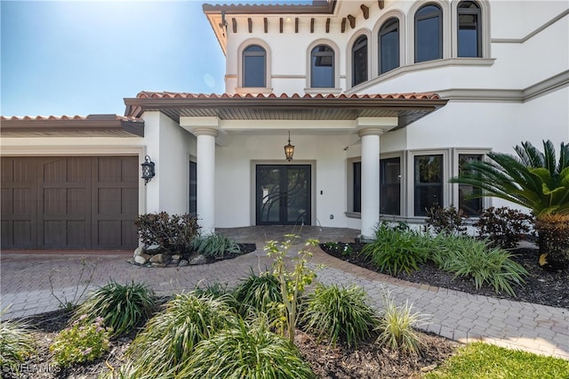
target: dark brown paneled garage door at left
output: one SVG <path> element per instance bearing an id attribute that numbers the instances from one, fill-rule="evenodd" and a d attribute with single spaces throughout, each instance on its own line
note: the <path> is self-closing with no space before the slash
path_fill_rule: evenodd
<path id="1" fill-rule="evenodd" d="M 138 246 L 138 157 L 2 157 L 2 248 Z"/>

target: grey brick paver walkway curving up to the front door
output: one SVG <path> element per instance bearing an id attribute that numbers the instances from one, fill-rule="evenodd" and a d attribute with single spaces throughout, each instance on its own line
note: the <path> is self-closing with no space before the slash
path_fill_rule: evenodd
<path id="1" fill-rule="evenodd" d="M 165 295 L 190 291 L 198 284 L 216 281 L 235 286 L 251 268 L 258 272 L 270 266 L 270 260 L 263 251 L 265 241 L 281 240 L 285 233 L 291 232 L 291 228 L 251 227 L 219 231 L 239 242 L 255 242 L 257 251 L 233 260 L 167 269 L 133 266 L 125 262 L 131 254 L 119 252 L 3 252 L 0 260 L 0 308 L 4 310 L 8 305 L 10 308 L 5 310 L 2 318 L 20 318 L 57 310 L 59 302 L 54 295 L 63 302 L 76 301 L 85 287 L 90 268 L 94 268 L 90 289 L 107 284 L 111 278 L 121 283 L 142 281 L 152 286 L 157 294 Z M 299 234 L 301 240 L 349 241 L 357 237 L 357 230 L 304 227 Z M 292 257 L 300 247 L 301 244 L 293 246 L 288 255 Z M 481 340 L 569 359 L 567 309 L 409 283 L 343 262 L 316 249 L 311 264 L 316 266 L 319 263 L 325 265 L 324 269 L 317 270 L 320 282 L 362 286 L 378 309 L 383 295 L 389 292 L 396 303 L 408 301 L 413 304 L 413 311 L 429 315 L 429 324 L 422 328 L 437 335 L 463 343 Z M 83 278 L 80 276 L 82 272 Z"/>

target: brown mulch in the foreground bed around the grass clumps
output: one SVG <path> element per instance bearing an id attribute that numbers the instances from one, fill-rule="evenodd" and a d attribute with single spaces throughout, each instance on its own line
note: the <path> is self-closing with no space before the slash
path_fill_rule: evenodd
<path id="1" fill-rule="evenodd" d="M 165 299 L 164 299 L 165 301 Z M 49 346 L 57 332 L 66 327 L 70 314 L 63 310 L 52 311 L 28 318 L 29 325 L 34 327 L 36 339 L 36 355 L 21 366 L 21 375 L 16 376 L 4 372 L 5 379 L 95 379 L 100 373 L 108 372 L 109 367 L 116 369 L 124 364 L 125 351 L 135 333 L 111 340 L 109 353 L 96 361 L 60 369 L 52 363 Z M 322 379 L 376 379 L 376 378 L 420 378 L 445 359 L 451 357 L 460 343 L 449 341 L 437 335 L 419 332 L 424 350 L 421 355 L 410 355 L 398 351 L 382 349 L 375 341 L 375 335 L 357 348 L 349 348 L 338 343 L 336 347 L 297 330 L 296 345 L 301 356 L 309 362 L 314 373 Z"/>

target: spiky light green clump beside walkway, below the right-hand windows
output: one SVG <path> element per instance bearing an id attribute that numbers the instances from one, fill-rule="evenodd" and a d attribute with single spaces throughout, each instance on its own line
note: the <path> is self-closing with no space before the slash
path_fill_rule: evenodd
<path id="1" fill-rule="evenodd" d="M 515 295 L 512 285 L 525 283 L 524 267 L 512 261 L 507 250 L 493 247 L 488 240 L 447 238 L 441 241 L 445 257 L 435 260 L 441 270 L 453 272 L 455 277 L 473 278 L 477 288 L 484 284 L 493 286 L 496 293 L 505 291 Z"/>

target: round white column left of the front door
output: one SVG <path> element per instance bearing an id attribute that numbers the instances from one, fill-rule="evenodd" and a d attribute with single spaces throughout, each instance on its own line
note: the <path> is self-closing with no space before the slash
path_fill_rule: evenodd
<path id="1" fill-rule="evenodd" d="M 215 138 L 218 131 L 196 128 L 197 217 L 204 235 L 215 231 Z"/>

